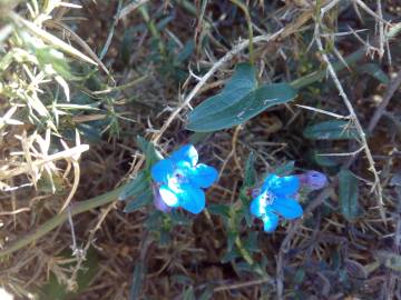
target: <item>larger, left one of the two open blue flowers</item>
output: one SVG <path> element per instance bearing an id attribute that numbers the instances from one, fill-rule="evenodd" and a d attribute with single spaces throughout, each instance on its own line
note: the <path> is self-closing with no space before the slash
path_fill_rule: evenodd
<path id="1" fill-rule="evenodd" d="M 217 179 L 217 170 L 198 162 L 194 146 L 186 144 L 151 168 L 151 178 L 158 183 L 158 196 L 169 208 L 183 208 L 199 213 L 205 208 L 205 193 Z"/>

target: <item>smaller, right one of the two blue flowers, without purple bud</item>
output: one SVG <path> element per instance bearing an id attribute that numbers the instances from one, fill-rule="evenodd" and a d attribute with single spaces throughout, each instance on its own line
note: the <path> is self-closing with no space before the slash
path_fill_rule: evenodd
<path id="1" fill-rule="evenodd" d="M 270 174 L 266 178 L 260 194 L 251 202 L 251 213 L 262 219 L 264 231 L 274 231 L 280 216 L 287 220 L 302 216 L 302 207 L 294 199 L 299 189 L 300 179 L 296 176 Z"/>

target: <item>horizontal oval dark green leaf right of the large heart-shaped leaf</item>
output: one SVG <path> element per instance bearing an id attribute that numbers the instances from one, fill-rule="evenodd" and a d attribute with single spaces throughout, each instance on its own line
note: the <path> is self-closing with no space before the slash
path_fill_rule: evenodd
<path id="1" fill-rule="evenodd" d="M 350 140 L 359 137 L 350 122 L 341 120 L 309 126 L 304 129 L 303 136 L 311 140 Z"/>

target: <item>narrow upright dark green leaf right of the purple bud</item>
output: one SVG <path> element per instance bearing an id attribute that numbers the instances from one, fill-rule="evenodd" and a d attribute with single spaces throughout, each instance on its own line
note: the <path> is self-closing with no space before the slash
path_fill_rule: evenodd
<path id="1" fill-rule="evenodd" d="M 349 221 L 355 220 L 359 214 L 358 179 L 348 169 L 342 169 L 339 173 L 339 197 L 341 212 L 344 218 Z"/>

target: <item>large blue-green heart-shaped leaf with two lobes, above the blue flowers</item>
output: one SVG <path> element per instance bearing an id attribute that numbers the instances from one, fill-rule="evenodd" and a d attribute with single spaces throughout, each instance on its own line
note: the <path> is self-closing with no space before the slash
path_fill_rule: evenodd
<path id="1" fill-rule="evenodd" d="M 221 93 L 194 109 L 189 114 L 187 129 L 209 132 L 231 128 L 295 97 L 296 91 L 287 83 L 258 87 L 254 67 L 241 63 Z"/>

